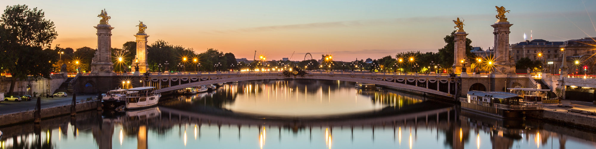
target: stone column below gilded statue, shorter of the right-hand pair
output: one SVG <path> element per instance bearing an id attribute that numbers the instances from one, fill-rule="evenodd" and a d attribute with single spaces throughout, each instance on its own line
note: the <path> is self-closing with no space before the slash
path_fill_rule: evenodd
<path id="1" fill-rule="evenodd" d="M 464 68 L 464 64 L 465 63 L 461 63 L 461 60 L 466 60 L 467 61 L 467 57 L 465 55 L 465 36 L 467 36 L 468 34 L 465 33 L 464 31 L 460 31 L 458 30 L 457 32 L 455 32 L 454 36 L 454 63 L 452 66 L 453 71 L 455 72 L 455 74 L 460 74 L 462 71 L 462 69 Z M 469 63 L 469 61 L 468 61 Z M 470 68 L 470 64 L 466 64 L 466 69 Z"/>

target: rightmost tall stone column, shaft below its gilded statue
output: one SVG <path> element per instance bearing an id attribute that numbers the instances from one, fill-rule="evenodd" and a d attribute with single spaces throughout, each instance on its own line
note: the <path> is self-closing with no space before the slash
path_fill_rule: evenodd
<path id="1" fill-rule="evenodd" d="M 509 56 L 509 24 L 506 20 L 499 20 L 491 26 L 495 28 L 492 32 L 495 35 L 494 66 L 496 74 L 516 74 L 516 64 Z"/>

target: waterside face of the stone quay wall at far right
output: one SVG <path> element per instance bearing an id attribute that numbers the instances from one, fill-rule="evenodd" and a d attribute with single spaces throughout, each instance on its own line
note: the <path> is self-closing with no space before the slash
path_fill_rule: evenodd
<path id="1" fill-rule="evenodd" d="M 535 119 L 596 130 L 596 117 L 594 116 L 552 110 L 532 111 L 526 114 L 527 117 L 533 117 Z"/>

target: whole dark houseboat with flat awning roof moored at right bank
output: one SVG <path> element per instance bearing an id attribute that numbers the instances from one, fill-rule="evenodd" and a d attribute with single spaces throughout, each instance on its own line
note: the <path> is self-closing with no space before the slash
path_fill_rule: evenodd
<path id="1" fill-rule="evenodd" d="M 520 102 L 522 97 L 509 92 L 468 91 L 467 98 L 460 98 L 461 107 L 474 113 L 503 119 L 524 119 L 527 111 L 542 110 L 542 104 Z"/>

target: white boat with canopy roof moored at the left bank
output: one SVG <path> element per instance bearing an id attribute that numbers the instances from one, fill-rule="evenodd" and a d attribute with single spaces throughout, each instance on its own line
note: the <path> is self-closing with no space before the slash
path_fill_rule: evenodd
<path id="1" fill-rule="evenodd" d="M 145 86 L 128 89 L 126 109 L 146 108 L 157 105 L 162 94 L 154 92 L 155 87 Z"/>

